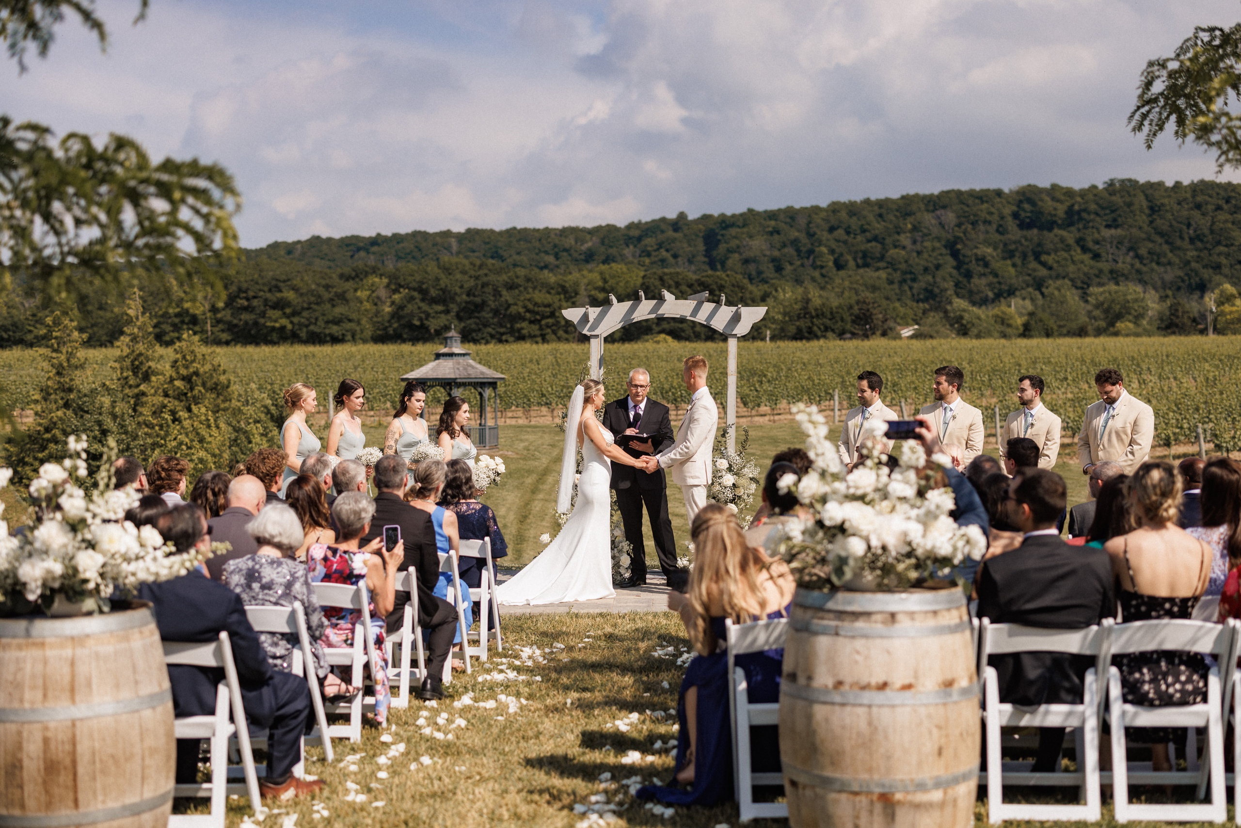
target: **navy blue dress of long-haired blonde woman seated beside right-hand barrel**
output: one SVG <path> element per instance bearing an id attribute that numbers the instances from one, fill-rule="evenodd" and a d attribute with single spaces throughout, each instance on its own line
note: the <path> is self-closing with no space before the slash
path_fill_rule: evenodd
<path id="1" fill-rule="evenodd" d="M 767 613 L 767 621 L 784 618 L 793 605 Z M 711 632 L 720 646 L 710 655 L 697 655 L 690 660 L 681 680 L 681 695 L 676 703 L 676 720 L 680 730 L 676 739 L 676 768 L 685 765 L 690 749 L 689 724 L 685 719 L 685 693 L 697 686 L 697 745 L 694 756 L 694 787 L 674 785 L 647 785 L 638 788 L 639 799 L 659 799 L 669 804 L 702 804 L 732 799 L 732 729 L 730 726 L 728 693 L 732 679 L 728 673 L 728 653 L 722 617 L 711 617 Z M 737 655 L 733 663 L 746 672 L 747 696 L 752 704 L 779 701 L 779 680 L 784 665 L 784 648 Z M 776 725 L 753 727 L 751 731 L 751 763 L 756 773 L 778 773 L 779 737 Z"/>

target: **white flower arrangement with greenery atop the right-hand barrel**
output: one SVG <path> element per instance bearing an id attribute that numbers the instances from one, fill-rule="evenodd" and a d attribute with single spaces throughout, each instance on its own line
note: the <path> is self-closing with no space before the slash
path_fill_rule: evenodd
<path id="1" fill-rule="evenodd" d="M 954 498 L 939 468 L 947 457 L 927 462 L 912 439 L 889 448 L 886 423 L 872 421 L 859 449 L 862 463 L 846 472 L 818 408 L 799 405 L 793 412 L 814 463 L 800 480 L 793 474 L 781 480 L 782 490 L 795 485 L 809 510 L 781 541 L 800 587 L 907 590 L 948 578 L 967 557 L 982 559 L 987 538 L 949 515 Z"/>

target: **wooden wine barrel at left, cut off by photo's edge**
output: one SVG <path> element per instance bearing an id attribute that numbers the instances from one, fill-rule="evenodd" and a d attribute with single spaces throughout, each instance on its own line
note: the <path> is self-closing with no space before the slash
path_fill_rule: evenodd
<path id="1" fill-rule="evenodd" d="M 168 826 L 172 690 L 148 606 L 0 619 L 0 828 Z"/>

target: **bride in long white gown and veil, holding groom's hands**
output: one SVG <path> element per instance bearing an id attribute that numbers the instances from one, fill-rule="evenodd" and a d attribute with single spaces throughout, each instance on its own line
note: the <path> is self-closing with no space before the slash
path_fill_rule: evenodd
<path id="1" fill-rule="evenodd" d="M 612 467 L 608 461 L 639 468 L 642 463 L 613 446 L 612 434 L 594 418 L 603 405 L 603 384 L 598 380 L 583 380 L 573 390 L 556 510 L 563 514 L 570 509 L 581 444 L 585 466 L 577 480 L 577 504 L 547 549 L 496 587 L 500 603 L 563 603 L 616 595 L 612 590 L 612 498 L 608 490 Z"/>

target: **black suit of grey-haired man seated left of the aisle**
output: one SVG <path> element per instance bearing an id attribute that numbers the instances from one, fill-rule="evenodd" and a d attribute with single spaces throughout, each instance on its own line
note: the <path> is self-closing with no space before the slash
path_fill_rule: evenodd
<path id="1" fill-rule="evenodd" d="M 438 677 L 444 669 L 444 662 L 453 648 L 457 634 L 457 610 L 443 598 L 436 597 L 432 590 L 439 582 L 439 550 L 436 546 L 436 525 L 431 515 L 422 509 L 411 506 L 395 492 L 380 492 L 375 495 L 375 516 L 371 518 L 371 530 L 362 535 L 361 546 L 383 534 L 383 526 L 400 526 L 401 540 L 405 541 L 405 560 L 400 570 L 411 570 L 418 590 L 418 623 L 431 631 L 431 660 L 427 674 Z M 406 592 L 396 593 L 396 602 L 387 617 L 388 632 L 401 628 L 405 618 L 405 605 L 410 603 Z"/>

